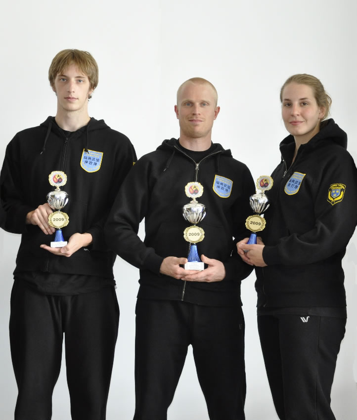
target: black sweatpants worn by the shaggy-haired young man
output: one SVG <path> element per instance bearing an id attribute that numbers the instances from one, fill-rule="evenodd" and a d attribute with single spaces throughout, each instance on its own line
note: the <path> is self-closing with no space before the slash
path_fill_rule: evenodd
<path id="1" fill-rule="evenodd" d="M 45 295 L 15 280 L 10 346 L 18 386 L 15 420 L 49 420 L 63 333 L 73 420 L 104 420 L 119 306 L 114 287 L 77 295 Z"/>

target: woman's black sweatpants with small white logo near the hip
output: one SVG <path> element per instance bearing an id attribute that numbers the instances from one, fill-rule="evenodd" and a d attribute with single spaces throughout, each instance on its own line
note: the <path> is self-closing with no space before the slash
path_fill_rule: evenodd
<path id="1" fill-rule="evenodd" d="M 330 394 L 346 318 L 258 316 L 258 331 L 280 420 L 335 420 Z"/>

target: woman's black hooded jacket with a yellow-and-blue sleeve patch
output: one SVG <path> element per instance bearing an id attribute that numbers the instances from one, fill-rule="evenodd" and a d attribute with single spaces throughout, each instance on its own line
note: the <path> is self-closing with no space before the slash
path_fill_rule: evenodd
<path id="1" fill-rule="evenodd" d="M 280 143 L 257 268 L 258 307 L 345 307 L 342 258 L 357 222 L 357 169 L 347 134 L 330 119 L 302 144 Z M 301 183 L 300 183 L 301 182 Z"/>

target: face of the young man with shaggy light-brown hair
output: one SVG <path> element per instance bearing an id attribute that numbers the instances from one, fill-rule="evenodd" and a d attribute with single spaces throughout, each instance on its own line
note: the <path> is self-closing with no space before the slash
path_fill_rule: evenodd
<path id="1" fill-rule="evenodd" d="M 52 89 L 56 92 L 58 106 L 69 112 L 82 110 L 93 92 L 87 75 L 74 64 L 56 76 Z"/>

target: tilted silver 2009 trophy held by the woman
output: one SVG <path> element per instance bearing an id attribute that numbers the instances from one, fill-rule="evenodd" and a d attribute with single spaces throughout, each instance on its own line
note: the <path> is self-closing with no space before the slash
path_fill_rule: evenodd
<path id="1" fill-rule="evenodd" d="M 262 175 L 257 179 L 257 188 L 260 190 L 259 193 L 253 194 L 249 201 L 250 207 L 256 213 L 252 216 L 248 216 L 245 221 L 245 227 L 249 229 L 252 233 L 249 237 L 247 244 L 254 245 L 257 243 L 257 233 L 265 228 L 266 220 L 261 213 L 264 213 L 265 210 L 269 207 L 268 197 L 265 195 L 265 191 L 270 190 L 273 186 L 273 179 L 271 176 Z M 248 250 L 243 250 L 247 252 Z"/>

